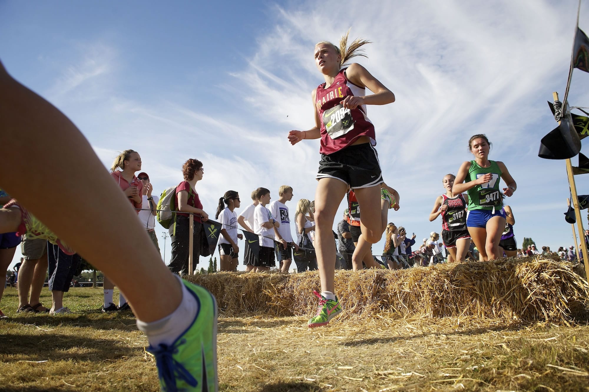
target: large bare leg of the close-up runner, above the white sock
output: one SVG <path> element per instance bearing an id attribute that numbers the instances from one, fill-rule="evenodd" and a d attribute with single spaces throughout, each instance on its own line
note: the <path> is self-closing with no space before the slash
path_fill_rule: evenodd
<path id="1" fill-rule="evenodd" d="M 6 162 L 19 162 L 0 165 L 2 188 L 108 275 L 133 304 L 137 318 L 160 320 L 176 309 L 180 283 L 88 141 L 58 109 L 12 79 L 1 65 L 0 118 L 0 155 Z M 23 151 L 36 159 L 23 160 Z M 92 178 L 91 192 L 87 178 Z M 39 184 L 50 184 L 53 190 L 67 191 L 38 197 L 31 184 L 36 190 L 43 188 Z M 112 228 L 126 235 L 112 235 Z M 128 254 L 133 259 L 121 257 Z"/>

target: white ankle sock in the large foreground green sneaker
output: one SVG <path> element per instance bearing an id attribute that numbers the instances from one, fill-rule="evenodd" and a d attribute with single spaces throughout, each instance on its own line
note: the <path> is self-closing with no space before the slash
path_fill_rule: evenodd
<path id="1" fill-rule="evenodd" d="M 180 277 L 178 277 L 178 280 L 180 280 Z M 198 312 L 196 298 L 181 283 L 181 280 L 180 284 L 182 285 L 182 301 L 176 310 L 161 320 L 152 321 L 151 323 L 137 320 L 137 328 L 147 335 L 147 340 L 152 347 L 157 347 L 159 344 L 167 344 L 168 346 L 173 344 L 178 336 L 193 323 L 194 317 L 196 317 Z"/>

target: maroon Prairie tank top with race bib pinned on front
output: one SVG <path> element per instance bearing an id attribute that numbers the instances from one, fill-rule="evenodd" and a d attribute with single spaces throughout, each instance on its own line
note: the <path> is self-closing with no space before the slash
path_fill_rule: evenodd
<path id="1" fill-rule="evenodd" d="M 366 107 L 345 109 L 339 103 L 348 96 L 365 95 L 366 91 L 348 80 L 346 69 L 339 71 L 329 87 L 325 88 L 325 83 L 317 87 L 315 104 L 321 121 L 321 154 L 342 150 L 360 136 L 368 136 L 376 144 L 374 125 L 366 117 Z"/>

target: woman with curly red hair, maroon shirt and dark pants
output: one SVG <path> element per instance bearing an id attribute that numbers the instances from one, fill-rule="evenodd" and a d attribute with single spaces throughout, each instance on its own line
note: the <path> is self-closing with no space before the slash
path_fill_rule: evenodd
<path id="1" fill-rule="evenodd" d="M 194 268 L 200 258 L 201 231 L 203 222 L 209 220 L 209 215 L 203 211 L 203 204 L 198 198 L 196 183 L 203 179 L 203 162 L 193 158 L 184 162 L 182 167 L 184 181 L 176 187 L 176 208 L 178 212 L 174 223 L 170 226 L 170 238 L 172 240 L 172 258 L 170 271 L 175 274 L 188 274 L 188 244 L 190 242 L 190 213 L 194 214 L 193 233 L 193 260 Z"/>

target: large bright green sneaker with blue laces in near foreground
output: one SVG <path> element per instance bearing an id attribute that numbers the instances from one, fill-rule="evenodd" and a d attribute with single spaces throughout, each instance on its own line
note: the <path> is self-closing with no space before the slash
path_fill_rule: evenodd
<path id="1" fill-rule="evenodd" d="M 148 347 L 164 392 L 217 392 L 217 301 L 206 288 L 182 281 L 198 303 L 193 323 L 171 346 Z"/>

